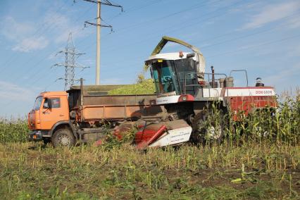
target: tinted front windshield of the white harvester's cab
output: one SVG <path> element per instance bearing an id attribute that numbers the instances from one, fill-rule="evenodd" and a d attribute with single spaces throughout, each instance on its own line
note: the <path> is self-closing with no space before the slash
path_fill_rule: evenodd
<path id="1" fill-rule="evenodd" d="M 151 63 L 152 75 L 156 92 L 176 92 L 180 93 L 180 88 L 177 82 L 177 77 L 174 71 L 173 61 L 158 60 Z"/>

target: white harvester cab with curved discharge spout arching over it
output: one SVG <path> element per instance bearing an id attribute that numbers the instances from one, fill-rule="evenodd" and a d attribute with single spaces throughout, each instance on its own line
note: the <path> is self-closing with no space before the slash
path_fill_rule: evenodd
<path id="1" fill-rule="evenodd" d="M 158 54 L 167 42 L 175 42 L 192 49 L 192 53 L 178 52 Z M 199 49 L 179 39 L 163 37 L 151 56 L 145 61 L 154 80 L 156 94 L 173 96 L 182 94 L 196 95 L 196 87 L 204 82 L 205 60 Z"/>

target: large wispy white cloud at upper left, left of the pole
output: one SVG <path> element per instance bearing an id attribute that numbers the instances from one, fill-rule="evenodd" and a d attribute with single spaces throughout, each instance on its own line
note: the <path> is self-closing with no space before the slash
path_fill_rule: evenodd
<path id="1" fill-rule="evenodd" d="M 66 43 L 68 34 L 73 32 L 73 39 L 85 37 L 92 29 L 82 31 L 82 23 L 74 23 L 66 13 L 46 11 L 37 23 L 18 21 L 6 16 L 0 21 L 0 34 L 11 40 L 13 51 L 30 52 L 45 49 L 51 42 Z M 41 27 L 42 25 L 42 27 Z"/>

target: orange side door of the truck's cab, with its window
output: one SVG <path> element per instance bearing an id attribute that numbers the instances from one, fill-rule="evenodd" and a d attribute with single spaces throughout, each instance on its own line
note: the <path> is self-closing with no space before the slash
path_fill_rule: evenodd
<path id="1" fill-rule="evenodd" d="M 68 105 L 65 105 L 63 97 L 65 96 L 51 96 L 43 99 L 40 112 L 42 130 L 51 130 L 59 121 L 69 120 Z M 51 108 L 48 108 L 48 101 L 51 101 Z"/>

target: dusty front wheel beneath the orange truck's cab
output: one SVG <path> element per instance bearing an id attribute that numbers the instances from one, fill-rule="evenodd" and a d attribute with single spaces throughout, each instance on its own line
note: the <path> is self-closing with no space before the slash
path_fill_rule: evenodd
<path id="1" fill-rule="evenodd" d="M 74 146 L 75 145 L 75 137 L 72 132 L 68 129 L 59 129 L 54 133 L 52 137 L 52 144 L 54 147 L 57 146 Z"/>

